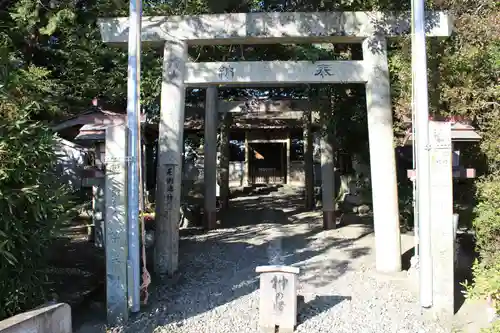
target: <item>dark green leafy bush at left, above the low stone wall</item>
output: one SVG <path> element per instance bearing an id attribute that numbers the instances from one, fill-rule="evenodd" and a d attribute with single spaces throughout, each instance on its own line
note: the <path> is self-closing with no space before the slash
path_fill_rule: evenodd
<path id="1" fill-rule="evenodd" d="M 54 135 L 27 119 L 0 120 L 0 319 L 43 302 L 48 245 L 68 214 Z"/>

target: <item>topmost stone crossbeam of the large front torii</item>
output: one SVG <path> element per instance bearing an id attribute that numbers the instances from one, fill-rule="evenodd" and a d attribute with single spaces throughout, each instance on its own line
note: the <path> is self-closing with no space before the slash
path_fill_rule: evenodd
<path id="1" fill-rule="evenodd" d="M 444 12 L 426 13 L 429 37 L 448 37 L 452 19 Z M 353 42 L 381 34 L 410 32 L 410 12 L 236 13 L 143 17 L 143 42 L 184 40 L 189 44 L 272 44 Z M 98 20 L 105 43 L 128 42 L 128 17 Z"/>

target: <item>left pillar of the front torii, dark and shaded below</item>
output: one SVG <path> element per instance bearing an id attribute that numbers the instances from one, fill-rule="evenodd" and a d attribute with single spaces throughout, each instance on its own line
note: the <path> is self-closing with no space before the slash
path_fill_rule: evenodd
<path id="1" fill-rule="evenodd" d="M 155 272 L 173 274 L 179 261 L 179 218 L 187 44 L 165 42 L 156 182 Z"/>

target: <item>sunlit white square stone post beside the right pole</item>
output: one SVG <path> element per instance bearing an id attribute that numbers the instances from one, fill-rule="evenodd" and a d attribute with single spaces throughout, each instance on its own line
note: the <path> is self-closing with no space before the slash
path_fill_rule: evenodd
<path id="1" fill-rule="evenodd" d="M 454 227 L 451 124 L 429 122 L 433 312 L 454 314 Z"/>

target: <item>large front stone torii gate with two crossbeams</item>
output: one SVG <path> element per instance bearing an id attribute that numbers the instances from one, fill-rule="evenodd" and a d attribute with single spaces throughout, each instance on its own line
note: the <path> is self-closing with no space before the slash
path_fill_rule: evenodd
<path id="1" fill-rule="evenodd" d="M 427 36 L 447 37 L 451 34 L 451 19 L 445 13 L 427 13 L 426 23 Z M 128 18 L 100 19 L 98 24 L 105 43 L 128 42 Z M 409 31 L 409 12 L 391 15 L 380 12 L 321 12 L 144 17 L 142 41 L 164 47 L 156 196 L 157 234 L 161 235 L 155 250 L 157 273 L 173 273 L 178 267 L 177 221 L 186 86 L 341 83 L 353 82 L 356 75 L 359 80 L 354 81 L 365 83 L 367 94 L 376 267 L 382 272 L 401 270 L 386 38 Z M 333 75 L 323 78 L 314 75 L 317 65 L 312 63 L 187 63 L 188 45 L 265 43 L 361 43 L 364 60 L 335 62 L 331 70 Z M 221 66 L 232 69 L 221 70 Z M 212 113 L 216 89 L 209 88 L 207 97 L 207 113 Z M 328 149 L 331 150 L 331 147 L 325 147 L 325 150 Z M 331 165 L 331 162 L 325 161 L 325 165 Z M 324 180 L 324 184 L 330 181 Z M 327 210 L 327 219 L 329 214 Z"/>

